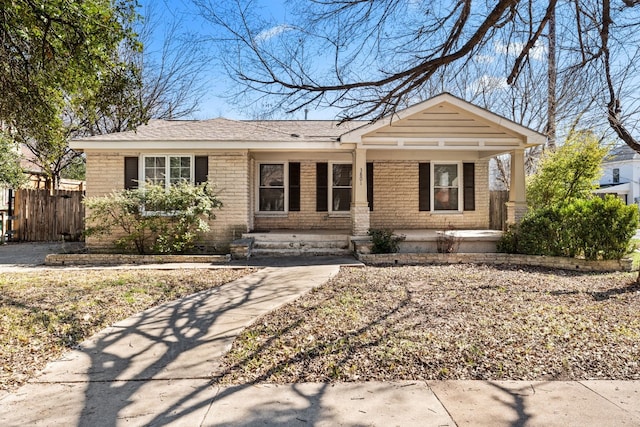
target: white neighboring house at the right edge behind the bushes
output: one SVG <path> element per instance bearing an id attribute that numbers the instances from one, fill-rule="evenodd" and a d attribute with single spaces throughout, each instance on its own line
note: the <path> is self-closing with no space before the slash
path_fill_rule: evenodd
<path id="1" fill-rule="evenodd" d="M 640 202 L 640 154 L 626 144 L 617 146 L 602 162 L 602 169 L 596 194 L 613 194 L 627 205 Z"/>

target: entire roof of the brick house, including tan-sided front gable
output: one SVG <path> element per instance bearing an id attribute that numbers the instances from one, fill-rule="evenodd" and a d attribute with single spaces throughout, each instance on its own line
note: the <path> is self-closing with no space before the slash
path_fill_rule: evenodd
<path id="1" fill-rule="evenodd" d="M 85 150 L 375 149 L 482 151 L 495 155 L 543 144 L 544 135 L 444 93 L 376 122 L 331 120 L 150 120 L 135 131 L 71 142 Z"/>

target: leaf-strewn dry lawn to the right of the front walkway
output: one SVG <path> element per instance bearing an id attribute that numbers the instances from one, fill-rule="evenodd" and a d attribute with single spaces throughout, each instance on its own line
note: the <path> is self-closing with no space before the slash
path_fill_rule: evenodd
<path id="1" fill-rule="evenodd" d="M 352 268 L 261 319 L 222 383 L 640 379 L 636 273 Z"/>

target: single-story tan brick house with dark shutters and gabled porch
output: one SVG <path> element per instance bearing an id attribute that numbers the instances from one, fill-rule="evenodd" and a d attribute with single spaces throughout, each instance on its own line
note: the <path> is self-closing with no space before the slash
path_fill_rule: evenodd
<path id="1" fill-rule="evenodd" d="M 251 231 L 486 230 L 489 160 L 504 153 L 514 222 L 526 211 L 524 152 L 544 142 L 444 93 L 373 123 L 151 121 L 71 147 L 86 154 L 87 196 L 149 180 L 213 183 L 224 207 L 206 239 L 223 250 Z"/>

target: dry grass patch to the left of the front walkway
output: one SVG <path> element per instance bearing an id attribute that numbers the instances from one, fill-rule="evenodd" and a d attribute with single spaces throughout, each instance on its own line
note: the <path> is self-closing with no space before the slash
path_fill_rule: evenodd
<path id="1" fill-rule="evenodd" d="M 242 270 L 43 270 L 0 273 L 0 389 L 105 328 L 165 301 L 227 283 Z"/>

